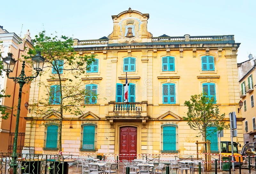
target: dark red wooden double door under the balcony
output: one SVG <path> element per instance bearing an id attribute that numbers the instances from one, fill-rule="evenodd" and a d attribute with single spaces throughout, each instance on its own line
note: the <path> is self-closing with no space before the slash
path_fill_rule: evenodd
<path id="1" fill-rule="evenodd" d="M 137 154 L 137 128 L 122 127 L 120 128 L 120 143 L 119 143 L 119 160 L 131 161 Z M 122 155 L 134 154 L 134 155 Z"/>

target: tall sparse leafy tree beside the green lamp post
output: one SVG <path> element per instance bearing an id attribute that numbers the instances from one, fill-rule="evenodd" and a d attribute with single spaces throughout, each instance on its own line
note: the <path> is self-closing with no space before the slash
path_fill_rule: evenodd
<path id="1" fill-rule="evenodd" d="M 73 39 L 67 36 L 46 36 L 45 31 L 35 36 L 35 46 L 28 50 L 28 56 L 25 59 L 30 59 L 36 54 L 36 51 L 41 51 L 41 55 L 45 58 L 44 71 L 42 74 L 50 75 L 52 83 L 39 82 L 41 89 L 44 89 L 47 97 L 38 101 L 40 106 L 36 107 L 37 116 L 45 116 L 56 114 L 60 116 L 59 124 L 59 148 L 61 151 L 61 132 L 63 114 L 82 115 L 81 102 L 84 103 L 85 95 L 88 95 L 81 85 L 80 78 L 88 69 L 88 65 L 94 61 L 94 55 L 91 56 L 76 56 L 76 51 L 73 48 Z M 47 68 L 48 67 L 48 68 Z M 47 71 L 49 69 L 49 71 Z M 52 74 L 54 72 L 54 74 Z M 63 75 L 65 73 L 65 75 Z M 40 74 L 40 75 L 42 75 Z M 79 81 L 79 82 L 77 82 Z M 54 89 L 51 85 L 56 85 L 60 96 L 54 95 Z M 89 93 L 91 94 L 91 93 Z M 96 94 L 90 97 L 96 98 Z M 54 105 L 52 105 L 54 104 Z"/>

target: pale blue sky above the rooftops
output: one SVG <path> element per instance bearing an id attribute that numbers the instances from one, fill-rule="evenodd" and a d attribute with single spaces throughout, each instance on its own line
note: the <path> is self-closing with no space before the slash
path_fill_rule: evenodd
<path id="1" fill-rule="evenodd" d="M 153 37 L 235 35 L 237 62 L 256 56 L 256 1 L 100 1 L 100 0 L 12 0 L 1 1 L 0 25 L 18 36 L 30 30 L 57 31 L 79 40 L 99 39 L 113 30 L 111 15 L 128 10 L 149 13 L 148 31 Z M 21 26 L 23 27 L 21 29 Z"/>

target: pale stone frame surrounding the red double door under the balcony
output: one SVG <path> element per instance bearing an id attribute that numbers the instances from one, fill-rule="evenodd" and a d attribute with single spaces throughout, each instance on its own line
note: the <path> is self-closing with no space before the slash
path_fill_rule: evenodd
<path id="1" fill-rule="evenodd" d="M 115 134 L 115 154 L 119 154 L 119 147 L 120 147 L 120 128 L 131 126 L 137 128 L 137 154 L 141 154 L 141 129 L 142 129 L 142 123 L 141 122 L 135 122 L 130 124 L 125 124 L 124 122 L 116 122 L 116 134 Z"/>

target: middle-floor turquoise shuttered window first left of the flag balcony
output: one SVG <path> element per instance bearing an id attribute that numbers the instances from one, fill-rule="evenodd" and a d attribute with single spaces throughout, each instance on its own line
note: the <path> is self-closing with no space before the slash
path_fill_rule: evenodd
<path id="1" fill-rule="evenodd" d="M 85 85 L 85 99 L 84 104 L 97 103 L 97 84 Z"/>

